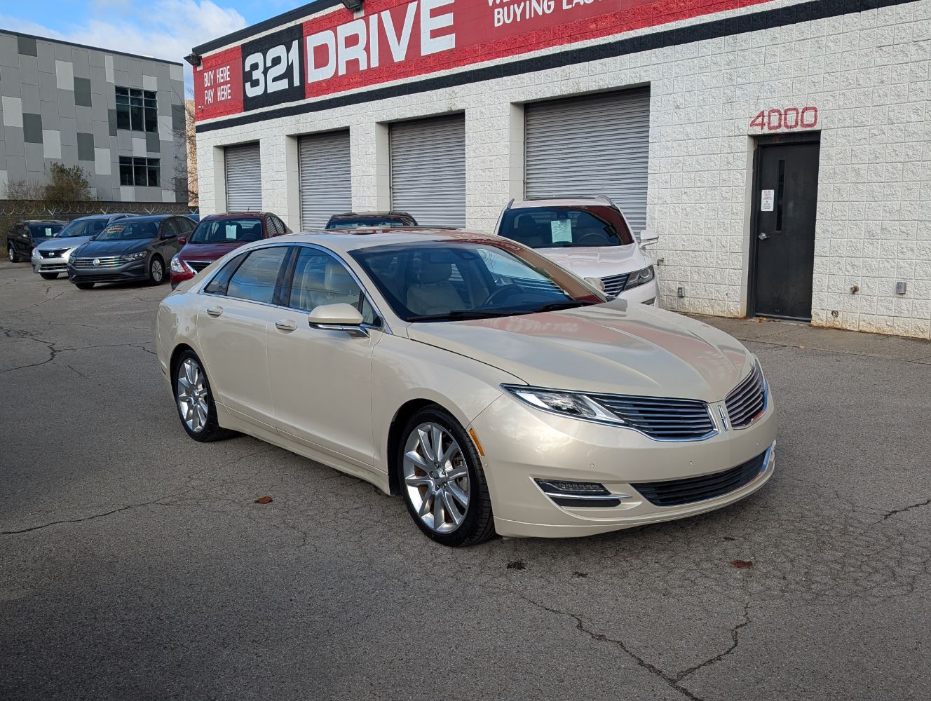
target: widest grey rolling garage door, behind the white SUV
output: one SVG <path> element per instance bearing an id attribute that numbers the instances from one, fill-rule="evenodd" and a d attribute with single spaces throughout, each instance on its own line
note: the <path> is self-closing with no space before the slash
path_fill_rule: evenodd
<path id="1" fill-rule="evenodd" d="M 524 106 L 527 197 L 608 195 L 646 227 L 650 88 Z"/>

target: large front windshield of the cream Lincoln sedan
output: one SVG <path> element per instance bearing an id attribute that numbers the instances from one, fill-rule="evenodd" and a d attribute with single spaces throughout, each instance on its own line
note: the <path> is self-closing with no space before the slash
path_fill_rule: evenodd
<path id="1" fill-rule="evenodd" d="M 555 263 L 506 241 L 424 241 L 351 255 L 405 321 L 510 317 L 604 302 Z"/>

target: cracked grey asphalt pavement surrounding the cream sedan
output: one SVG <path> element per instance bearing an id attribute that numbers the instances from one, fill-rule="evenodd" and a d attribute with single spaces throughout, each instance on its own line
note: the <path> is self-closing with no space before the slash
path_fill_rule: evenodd
<path id="1" fill-rule="evenodd" d="M 773 388 L 761 492 L 448 549 L 358 479 L 187 438 L 168 292 L 0 263 L 3 699 L 928 697 L 931 344 L 708 319 Z"/>

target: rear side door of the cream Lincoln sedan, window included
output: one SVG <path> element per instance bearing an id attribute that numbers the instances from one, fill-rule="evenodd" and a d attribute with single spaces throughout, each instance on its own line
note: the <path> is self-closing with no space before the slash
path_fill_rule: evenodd
<path id="1" fill-rule="evenodd" d="M 253 249 L 227 263 L 200 296 L 197 341 L 217 401 L 238 418 L 274 431 L 266 336 L 290 247 Z M 228 277 L 228 280 L 224 281 Z M 216 283 L 216 284 L 214 284 Z"/>

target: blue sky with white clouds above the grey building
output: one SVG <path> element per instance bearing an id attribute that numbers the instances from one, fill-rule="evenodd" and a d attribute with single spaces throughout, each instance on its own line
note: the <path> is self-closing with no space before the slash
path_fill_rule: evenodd
<path id="1" fill-rule="evenodd" d="M 181 61 L 196 44 L 309 1 L 4 0 L 0 29 Z"/>

